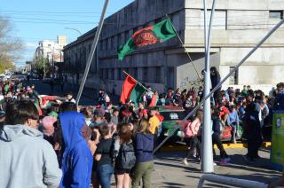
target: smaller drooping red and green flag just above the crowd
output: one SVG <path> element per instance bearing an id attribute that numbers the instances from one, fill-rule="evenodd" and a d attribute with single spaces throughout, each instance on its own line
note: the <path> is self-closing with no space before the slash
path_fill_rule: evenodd
<path id="1" fill-rule="evenodd" d="M 143 95 L 146 89 L 141 86 L 134 78 L 130 75 L 127 75 L 125 81 L 122 85 L 122 95 L 121 102 L 125 104 L 127 99 L 130 99 L 135 103 L 135 106 L 138 106 L 138 103 L 143 101 Z"/>

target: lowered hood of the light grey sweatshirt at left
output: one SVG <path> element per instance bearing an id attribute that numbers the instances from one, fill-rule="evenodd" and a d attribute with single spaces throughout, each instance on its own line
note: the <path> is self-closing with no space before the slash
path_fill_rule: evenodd
<path id="1" fill-rule="evenodd" d="M 30 128 L 26 125 L 5 125 L 0 137 L 6 142 L 11 142 L 19 137 L 28 135 L 30 137 L 43 137 L 43 133 L 38 129 Z"/>

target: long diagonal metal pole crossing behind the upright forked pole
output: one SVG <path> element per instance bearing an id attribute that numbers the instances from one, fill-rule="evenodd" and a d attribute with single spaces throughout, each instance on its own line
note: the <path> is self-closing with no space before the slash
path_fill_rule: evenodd
<path id="1" fill-rule="evenodd" d="M 255 51 L 256 51 L 256 50 L 257 50 L 282 24 L 283 24 L 283 23 L 284 23 L 284 19 L 280 20 L 280 22 L 279 22 L 276 26 L 274 26 L 274 27 L 272 28 L 272 30 L 270 30 L 269 33 L 266 34 L 266 35 L 264 36 L 264 38 L 263 38 L 259 43 L 257 43 L 256 46 L 255 46 L 251 51 L 249 51 L 248 54 L 247 54 L 243 59 L 241 59 L 241 61 L 236 65 L 236 67 L 234 67 L 234 68 L 231 70 L 231 72 L 230 72 L 229 74 L 227 74 L 227 75 L 225 76 L 225 78 L 224 78 L 221 82 L 219 82 L 219 83 L 217 84 L 217 86 L 216 86 L 213 90 L 211 90 L 211 91 L 209 92 L 209 94 L 208 94 L 207 96 L 205 96 L 205 97 L 201 100 L 201 102 L 200 102 L 197 106 L 195 106 L 195 107 L 193 108 L 193 110 L 192 110 L 189 114 L 187 114 L 187 115 L 185 116 L 183 122 L 186 121 L 189 117 L 191 117 L 191 116 L 201 107 L 201 105 L 203 105 L 204 101 L 205 101 L 206 99 L 210 98 L 210 96 L 213 95 L 213 93 L 214 93 L 216 90 L 218 90 L 219 87 L 220 87 L 239 67 L 241 67 L 241 65 L 251 56 L 251 54 L 253 54 L 253 53 L 254 53 L 254 52 L 255 52 Z M 160 145 L 158 145 L 158 146 L 156 146 L 156 148 L 154 148 L 154 153 L 157 152 L 157 151 L 159 150 L 159 148 L 162 147 L 162 145 L 163 145 L 170 137 L 172 137 L 172 136 L 177 132 L 178 129 L 179 129 L 179 126 L 177 126 L 175 129 L 173 129 L 173 131 L 170 133 L 170 135 L 169 135 L 168 137 L 166 137 L 164 140 L 162 140 L 162 143 L 161 143 Z"/>

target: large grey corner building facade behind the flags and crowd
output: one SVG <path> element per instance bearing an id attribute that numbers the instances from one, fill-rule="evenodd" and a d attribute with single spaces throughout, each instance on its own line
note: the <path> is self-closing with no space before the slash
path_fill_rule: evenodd
<path id="1" fill-rule="evenodd" d="M 207 7 L 211 4 L 212 1 L 208 1 Z M 202 9 L 199 0 L 136 0 L 115 12 L 105 20 L 86 86 L 97 90 L 105 88 L 119 95 L 125 71 L 159 92 L 169 87 L 192 87 L 204 68 Z M 217 67 L 221 77 L 225 77 L 283 19 L 283 10 L 284 0 L 217 1 L 210 62 L 211 66 Z M 171 39 L 140 48 L 118 61 L 118 46 L 126 43 L 138 29 L 154 25 L 166 15 L 177 29 L 182 43 L 177 38 Z M 64 49 L 65 66 L 73 82 L 79 83 L 83 76 L 95 32 L 96 28 Z M 280 27 L 223 87 L 249 84 L 253 89 L 270 90 L 277 82 L 283 81 L 280 76 L 284 71 L 283 58 L 284 32 Z"/>

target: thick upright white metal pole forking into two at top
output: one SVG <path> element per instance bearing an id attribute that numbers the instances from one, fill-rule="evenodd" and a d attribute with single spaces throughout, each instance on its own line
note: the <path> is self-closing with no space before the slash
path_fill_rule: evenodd
<path id="1" fill-rule="evenodd" d="M 209 95 L 210 92 L 210 43 L 211 43 L 211 28 L 213 15 L 215 12 L 215 3 L 213 0 L 209 29 L 207 30 L 207 7 L 206 0 L 204 4 L 204 41 L 205 41 L 205 82 L 204 82 L 204 96 Z M 201 169 L 205 173 L 214 172 L 213 153 L 212 153 L 212 128 L 211 128 L 211 109 L 210 98 L 207 98 L 203 106 L 203 125 L 202 125 L 202 157 Z"/>

